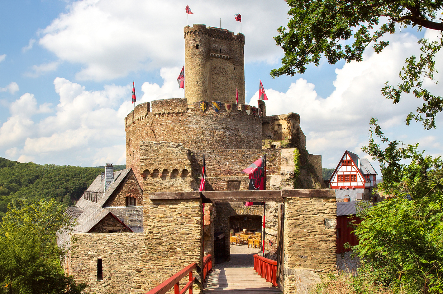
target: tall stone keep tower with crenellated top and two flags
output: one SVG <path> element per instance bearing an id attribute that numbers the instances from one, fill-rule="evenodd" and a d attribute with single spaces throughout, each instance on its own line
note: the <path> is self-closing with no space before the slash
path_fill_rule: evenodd
<path id="1" fill-rule="evenodd" d="M 245 35 L 194 24 L 184 28 L 185 96 L 198 101 L 245 104 Z"/>

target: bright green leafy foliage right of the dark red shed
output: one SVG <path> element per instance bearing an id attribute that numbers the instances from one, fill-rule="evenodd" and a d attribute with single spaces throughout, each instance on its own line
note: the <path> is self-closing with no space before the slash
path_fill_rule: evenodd
<path id="1" fill-rule="evenodd" d="M 383 284 L 404 293 L 443 293 L 443 161 L 418 152 L 418 144 L 390 141 L 377 119 L 371 124 L 369 145 L 362 149 L 379 161 L 378 188 L 393 199 L 362 210 L 355 249 L 383 272 Z M 384 150 L 374 133 L 387 145 Z"/>

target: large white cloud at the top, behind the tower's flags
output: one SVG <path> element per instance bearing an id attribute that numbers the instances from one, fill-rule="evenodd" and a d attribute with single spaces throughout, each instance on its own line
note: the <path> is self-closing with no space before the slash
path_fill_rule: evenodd
<path id="1" fill-rule="evenodd" d="M 109 80 L 132 71 L 173 67 L 183 63 L 186 5 L 185 1 L 172 0 L 133 0 L 124 5 L 118 0 L 75 1 L 39 32 L 39 44 L 61 61 L 82 65 L 76 74 L 78 80 Z M 283 1 L 269 5 L 259 0 L 250 5 L 201 0 L 194 2 L 193 11 L 191 25 L 219 27 L 221 18 L 221 27 L 235 33 L 240 31 L 240 23 L 234 14 L 242 12 L 243 33 L 254 32 L 254 38 L 246 39 L 246 61 L 274 63 L 280 59 L 281 49 L 272 37 L 275 28 L 287 19 L 288 6 Z M 165 13 L 168 21 L 164 20 Z M 276 26 L 276 19 L 282 23 Z"/>

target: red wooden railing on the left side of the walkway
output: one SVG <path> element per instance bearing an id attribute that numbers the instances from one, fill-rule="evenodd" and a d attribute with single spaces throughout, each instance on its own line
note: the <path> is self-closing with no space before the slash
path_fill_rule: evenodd
<path id="1" fill-rule="evenodd" d="M 198 282 L 197 278 L 192 276 L 192 271 L 194 268 L 198 269 L 197 263 L 191 263 L 187 267 L 183 268 L 183 270 L 179 271 L 171 278 L 167 279 L 159 286 L 156 286 L 154 289 L 148 291 L 146 294 L 164 294 L 169 291 L 172 287 L 174 287 L 174 294 L 184 294 L 187 290 L 189 290 L 189 294 L 192 294 L 192 284 Z M 206 279 L 206 274 L 212 269 L 212 256 L 205 256 L 203 259 L 203 283 L 204 279 Z M 180 280 L 183 279 L 186 275 L 189 275 L 189 282 L 180 290 Z"/>

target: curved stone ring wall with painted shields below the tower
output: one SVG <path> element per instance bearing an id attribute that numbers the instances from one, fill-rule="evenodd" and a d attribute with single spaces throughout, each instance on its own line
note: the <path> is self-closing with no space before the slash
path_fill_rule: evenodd
<path id="1" fill-rule="evenodd" d="M 210 106 L 202 112 L 198 103 L 186 112 L 147 111 L 148 107 L 142 103 L 125 118 L 126 167 L 134 170 L 139 182 L 143 172 L 139 167 L 143 141 L 176 142 L 189 150 L 262 148 L 261 118 L 248 115 L 244 105 L 240 110 L 233 107 L 230 113 L 224 105 L 218 113 Z"/>

